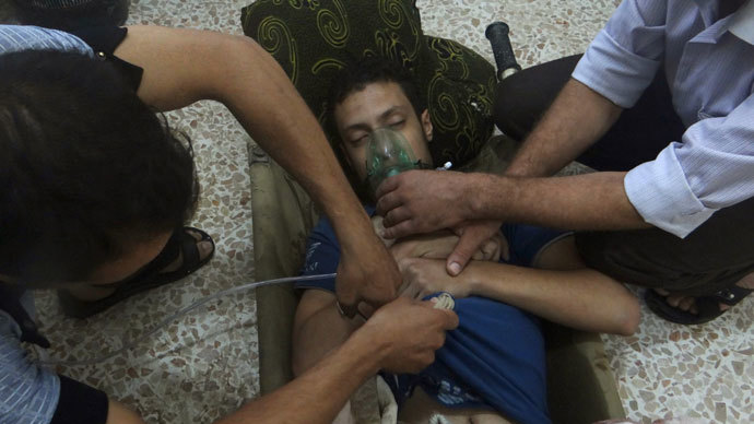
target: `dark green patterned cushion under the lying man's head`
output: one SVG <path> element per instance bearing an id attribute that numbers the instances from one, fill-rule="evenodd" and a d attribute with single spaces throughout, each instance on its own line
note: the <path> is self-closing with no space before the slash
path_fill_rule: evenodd
<path id="1" fill-rule="evenodd" d="M 428 94 L 436 163 L 467 162 L 492 134 L 493 67 L 455 42 L 424 36 L 414 0 L 258 0 L 241 20 L 320 121 L 337 71 L 382 56 L 403 63 Z"/>

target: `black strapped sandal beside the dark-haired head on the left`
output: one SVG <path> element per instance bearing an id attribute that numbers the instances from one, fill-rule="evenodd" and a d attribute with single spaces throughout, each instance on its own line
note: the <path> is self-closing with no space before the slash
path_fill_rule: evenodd
<path id="1" fill-rule="evenodd" d="M 199 233 L 201 239 L 196 239 L 188 231 Z M 207 258 L 200 260 L 197 245 L 201 242 L 212 243 L 212 251 Z M 184 260 L 177 270 L 160 272 L 175 261 L 179 254 L 182 254 Z M 213 256 L 214 240 L 212 237 L 199 228 L 185 226 L 176 229 L 165 245 L 163 251 L 136 274 L 119 283 L 93 284 L 93 286 L 116 287 L 115 293 L 111 295 L 98 301 L 86 302 L 74 297 L 64 290 L 59 290 L 58 298 L 60 299 L 60 306 L 62 307 L 63 314 L 69 317 L 80 319 L 89 318 L 134 294 L 178 281 L 203 267 Z"/>

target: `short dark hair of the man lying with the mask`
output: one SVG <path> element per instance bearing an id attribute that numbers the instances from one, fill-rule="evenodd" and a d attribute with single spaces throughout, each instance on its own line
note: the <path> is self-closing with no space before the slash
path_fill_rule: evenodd
<path id="1" fill-rule="evenodd" d="M 426 109 L 426 99 L 420 95 L 413 76 L 404 67 L 387 58 L 367 56 L 343 67 L 330 83 L 327 120 L 329 131 L 335 131 L 331 137 L 338 136 L 333 118 L 335 106 L 352 93 L 360 92 L 376 82 L 397 83 L 411 102 L 417 116 Z"/>

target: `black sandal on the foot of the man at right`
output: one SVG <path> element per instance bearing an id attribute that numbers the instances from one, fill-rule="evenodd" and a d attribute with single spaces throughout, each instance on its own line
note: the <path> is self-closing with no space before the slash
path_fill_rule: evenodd
<path id="1" fill-rule="evenodd" d="M 683 325 L 697 325 L 709 322 L 722 315 L 724 310 L 720 310 L 720 304 L 733 306 L 752 292 L 754 290 L 732 285 L 711 295 L 696 297 L 698 314 L 692 314 L 671 306 L 668 303 L 667 296 L 657 293 L 652 288 L 647 288 L 644 298 L 647 301 L 649 309 L 663 319 Z"/>

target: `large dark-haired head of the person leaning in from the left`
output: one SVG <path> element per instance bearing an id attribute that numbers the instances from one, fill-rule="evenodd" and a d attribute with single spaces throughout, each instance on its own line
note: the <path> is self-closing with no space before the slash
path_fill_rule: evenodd
<path id="1" fill-rule="evenodd" d="M 108 62 L 24 51 L 0 60 L 0 274 L 82 281 L 197 203 L 190 142 Z"/>

